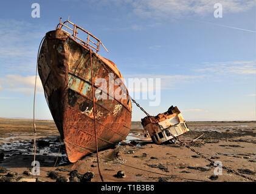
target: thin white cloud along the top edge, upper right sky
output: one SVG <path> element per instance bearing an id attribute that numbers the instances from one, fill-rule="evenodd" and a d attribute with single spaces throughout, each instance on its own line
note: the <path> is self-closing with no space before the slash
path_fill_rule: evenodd
<path id="1" fill-rule="evenodd" d="M 215 3 L 221 3 L 225 13 L 245 12 L 255 6 L 255 0 L 142 0 L 130 1 L 133 12 L 143 18 L 179 18 L 187 15 L 213 14 Z"/>

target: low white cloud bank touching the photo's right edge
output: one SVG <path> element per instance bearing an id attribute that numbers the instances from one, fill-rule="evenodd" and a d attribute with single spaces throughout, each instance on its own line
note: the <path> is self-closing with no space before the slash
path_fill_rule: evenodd
<path id="1" fill-rule="evenodd" d="M 229 61 L 206 63 L 202 69 L 197 69 L 197 72 L 209 72 L 216 74 L 240 74 L 240 75 L 255 75 L 256 61 Z"/>

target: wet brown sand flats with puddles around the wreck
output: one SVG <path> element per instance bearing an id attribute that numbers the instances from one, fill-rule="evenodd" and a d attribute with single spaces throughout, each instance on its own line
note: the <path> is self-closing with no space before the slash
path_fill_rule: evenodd
<path id="1" fill-rule="evenodd" d="M 182 141 L 207 157 L 213 157 L 214 161 L 221 161 L 223 166 L 256 178 L 256 121 L 187 122 L 187 125 L 190 132 L 180 137 Z M 95 177 L 92 181 L 100 181 L 95 155 L 86 156 L 71 164 L 67 161 L 54 122 L 36 121 L 36 126 L 36 160 L 40 161 L 40 176 L 24 175 L 23 172 L 30 170 L 33 161 L 32 121 L 0 119 L 0 181 L 3 180 L 1 177 L 8 173 L 1 173 L 1 167 L 16 173 L 9 181 L 18 181 L 20 178 L 56 181 L 56 178 L 47 177 L 49 171 L 68 179 L 72 170 L 78 170 L 81 175 L 93 172 Z M 201 138 L 192 142 L 202 133 L 204 135 Z M 209 161 L 198 158 L 185 147 L 176 144 L 156 145 L 151 141 L 138 140 L 142 138 L 144 137 L 140 122 L 133 122 L 126 141 L 99 152 L 100 169 L 105 181 L 247 181 L 226 170 L 223 170 L 223 175 L 219 175 L 217 179 L 210 179 L 214 175 L 215 167 L 210 166 Z M 1 159 L 3 155 L 4 158 Z M 125 172 L 125 178 L 115 176 L 119 170 Z"/>

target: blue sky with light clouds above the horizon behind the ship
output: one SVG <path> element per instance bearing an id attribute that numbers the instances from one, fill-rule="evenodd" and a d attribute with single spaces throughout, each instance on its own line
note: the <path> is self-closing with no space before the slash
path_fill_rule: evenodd
<path id="1" fill-rule="evenodd" d="M 40 18 L 31 5 L 40 4 Z M 215 18 L 213 5 L 223 5 Z M 58 19 L 100 38 L 125 78 L 161 78 L 156 115 L 177 105 L 188 121 L 255 120 L 255 1 L 13 1 L 0 7 L 0 117 L 32 118 L 36 53 Z M 51 119 L 38 87 L 36 118 Z M 145 115 L 133 106 L 133 121 Z"/>

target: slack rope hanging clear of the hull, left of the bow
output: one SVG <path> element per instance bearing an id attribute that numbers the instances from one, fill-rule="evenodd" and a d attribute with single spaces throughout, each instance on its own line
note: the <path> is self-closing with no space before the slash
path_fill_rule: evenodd
<path id="1" fill-rule="evenodd" d="M 46 36 L 44 36 L 46 38 Z M 41 39 L 38 52 L 37 52 L 37 59 L 36 59 L 36 71 L 35 71 L 35 88 L 34 88 L 34 96 L 33 96 L 33 130 L 34 130 L 34 142 L 33 142 L 33 167 L 35 168 L 35 157 L 36 157 L 36 124 L 35 124 L 35 96 L 36 96 L 36 81 L 37 81 L 37 71 L 38 71 L 38 61 L 39 61 L 39 52 L 41 49 L 41 45 L 44 41 L 44 38 Z"/>

